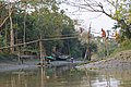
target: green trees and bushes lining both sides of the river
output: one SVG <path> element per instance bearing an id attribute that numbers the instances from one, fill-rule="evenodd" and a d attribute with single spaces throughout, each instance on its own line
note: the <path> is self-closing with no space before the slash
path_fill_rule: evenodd
<path id="1" fill-rule="evenodd" d="M 114 28 L 120 28 L 119 37 L 117 42 L 120 47 L 117 48 L 117 44 L 109 41 L 109 54 L 112 51 L 121 51 L 131 49 L 131 8 L 127 0 L 105 0 L 105 2 L 111 4 L 116 10 L 115 12 L 108 13 L 105 11 L 103 3 L 97 1 L 87 1 L 87 4 L 83 9 L 88 8 L 92 12 L 102 12 L 115 20 L 117 23 Z M 80 1 L 81 3 L 81 1 Z M 8 2 L 8 0 L 0 1 L 0 47 L 8 47 L 17 44 L 29 42 L 37 39 L 49 39 L 49 38 L 61 38 L 61 37 L 74 37 L 79 36 L 74 29 L 73 21 L 64 13 L 63 10 L 59 9 L 59 2 L 57 0 L 17 0 L 14 2 Z M 81 4 L 79 4 L 81 5 Z M 97 9 L 97 10 L 96 10 Z M 84 35 L 84 34 L 83 34 Z M 46 55 L 52 53 L 53 48 L 63 53 L 69 54 L 73 58 L 84 58 L 87 48 L 92 49 L 92 54 L 98 53 L 99 57 L 104 57 L 104 44 L 100 40 L 93 40 L 88 45 L 87 34 L 81 38 L 64 39 L 64 40 L 44 40 L 43 51 Z M 29 45 L 23 45 L 15 48 L 8 48 L 1 50 L 5 55 L 16 54 L 19 49 L 21 51 L 31 50 L 39 52 L 39 44 L 34 42 Z M 117 49 L 116 49 L 117 48 Z M 3 55 L 4 55 L 3 54 Z"/>

